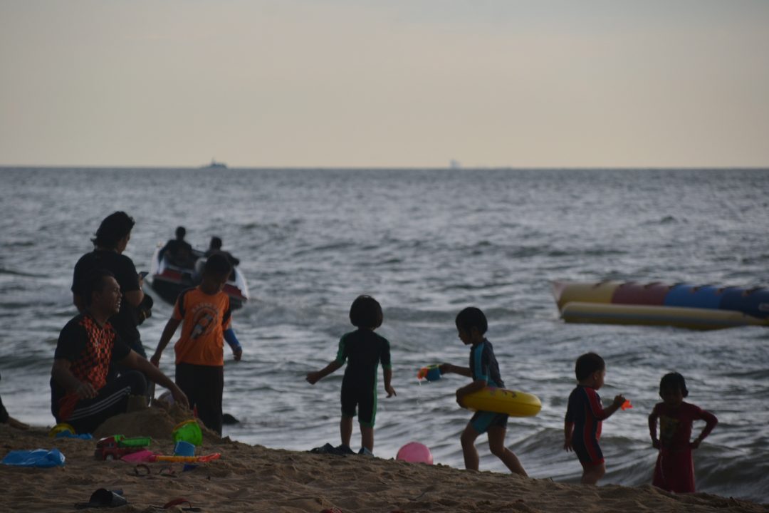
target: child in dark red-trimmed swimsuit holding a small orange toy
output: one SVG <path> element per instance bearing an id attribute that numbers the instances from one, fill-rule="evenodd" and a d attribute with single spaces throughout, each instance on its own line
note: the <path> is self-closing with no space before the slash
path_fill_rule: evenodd
<path id="1" fill-rule="evenodd" d="M 595 353 L 577 358 L 574 366 L 578 385 L 569 395 L 564 422 L 564 449 L 577 453 L 582 464 L 583 485 L 595 485 L 606 473 L 604 454 L 598 445 L 601 421 L 609 418 L 624 403 L 622 395 L 614 397 L 611 406 L 604 408 L 598 389 L 604 386 L 606 363 Z"/>

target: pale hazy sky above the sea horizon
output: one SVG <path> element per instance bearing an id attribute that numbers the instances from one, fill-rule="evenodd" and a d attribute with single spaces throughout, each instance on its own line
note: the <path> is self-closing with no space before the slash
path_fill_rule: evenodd
<path id="1" fill-rule="evenodd" d="M 769 167 L 765 0 L 0 0 L 0 165 Z"/>

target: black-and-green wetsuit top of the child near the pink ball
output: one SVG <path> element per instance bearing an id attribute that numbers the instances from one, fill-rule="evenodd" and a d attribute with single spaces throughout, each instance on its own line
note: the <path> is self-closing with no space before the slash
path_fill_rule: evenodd
<path id="1" fill-rule="evenodd" d="M 345 363 L 342 386 L 361 387 L 371 390 L 377 381 L 377 367 L 392 368 L 390 342 L 368 329 L 358 329 L 342 335 L 336 361 Z"/>

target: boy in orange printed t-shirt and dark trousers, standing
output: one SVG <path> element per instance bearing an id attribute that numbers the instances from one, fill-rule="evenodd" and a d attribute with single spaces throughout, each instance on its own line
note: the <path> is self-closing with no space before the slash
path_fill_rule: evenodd
<path id="1" fill-rule="evenodd" d="M 201 284 L 181 292 L 174 305 L 150 361 L 159 365 L 165 346 L 176 328 L 176 385 L 185 392 L 190 408 L 198 408 L 203 424 L 221 435 L 221 397 L 225 388 L 224 341 L 232 349 L 235 361 L 243 349 L 231 328 L 230 298 L 224 288 L 232 267 L 222 255 L 211 255 L 205 262 Z"/>

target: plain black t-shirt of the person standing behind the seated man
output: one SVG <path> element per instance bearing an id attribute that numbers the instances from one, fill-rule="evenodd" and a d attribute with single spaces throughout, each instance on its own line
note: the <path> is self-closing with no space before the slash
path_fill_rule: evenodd
<path id="1" fill-rule="evenodd" d="M 109 319 L 112 327 L 118 332 L 120 338 L 126 344 L 131 344 L 140 339 L 136 328 L 138 318 L 136 309 L 125 299 L 125 293 L 139 290 L 139 278 L 134 262 L 125 255 L 109 250 L 95 249 L 83 255 L 75 264 L 75 274 L 72 277 L 72 292 L 85 299 L 85 288 L 88 284 L 88 275 L 96 269 L 106 269 L 115 275 L 120 285 L 123 300 L 120 302 L 120 311 Z"/>

